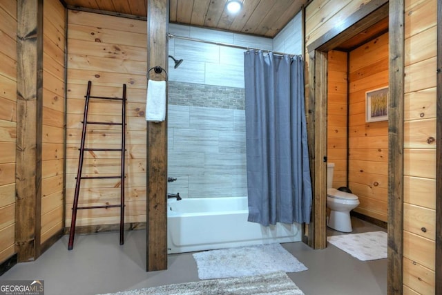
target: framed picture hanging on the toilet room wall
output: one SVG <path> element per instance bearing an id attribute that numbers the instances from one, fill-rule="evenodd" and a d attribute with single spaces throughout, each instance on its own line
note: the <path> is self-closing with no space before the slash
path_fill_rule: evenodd
<path id="1" fill-rule="evenodd" d="M 365 122 L 388 120 L 388 87 L 365 93 Z"/>

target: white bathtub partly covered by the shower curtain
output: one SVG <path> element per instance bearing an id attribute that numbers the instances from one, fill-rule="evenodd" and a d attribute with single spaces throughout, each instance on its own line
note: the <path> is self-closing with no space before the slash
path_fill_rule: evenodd
<path id="1" fill-rule="evenodd" d="M 169 254 L 271 242 L 298 242 L 298 224 L 262 227 L 248 222 L 247 197 L 169 200 Z"/>

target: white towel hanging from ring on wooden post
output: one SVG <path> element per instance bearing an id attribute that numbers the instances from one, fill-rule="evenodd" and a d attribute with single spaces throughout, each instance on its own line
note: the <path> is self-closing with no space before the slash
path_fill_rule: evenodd
<path id="1" fill-rule="evenodd" d="M 166 81 L 148 80 L 146 121 L 162 122 L 166 119 Z"/>

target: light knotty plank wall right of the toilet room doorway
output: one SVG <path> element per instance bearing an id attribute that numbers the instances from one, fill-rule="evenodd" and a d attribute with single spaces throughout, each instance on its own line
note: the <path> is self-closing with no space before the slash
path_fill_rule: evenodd
<path id="1" fill-rule="evenodd" d="M 405 1 L 404 294 L 435 286 L 436 6 Z"/>

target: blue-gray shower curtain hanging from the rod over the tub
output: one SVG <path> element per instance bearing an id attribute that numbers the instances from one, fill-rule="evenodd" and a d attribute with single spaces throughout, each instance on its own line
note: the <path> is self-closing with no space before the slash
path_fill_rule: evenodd
<path id="1" fill-rule="evenodd" d="M 302 57 L 244 53 L 249 221 L 310 221 Z"/>

